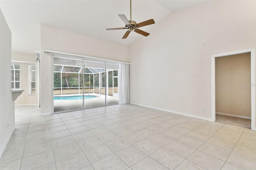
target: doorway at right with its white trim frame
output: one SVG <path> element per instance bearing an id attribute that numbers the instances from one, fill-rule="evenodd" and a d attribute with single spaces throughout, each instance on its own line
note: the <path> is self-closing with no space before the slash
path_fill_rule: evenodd
<path id="1" fill-rule="evenodd" d="M 255 49 L 212 55 L 212 120 L 218 119 L 236 126 L 250 121 L 255 130 Z"/>

